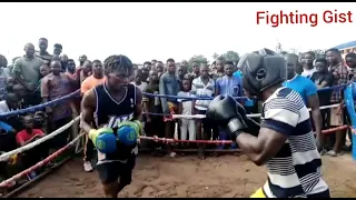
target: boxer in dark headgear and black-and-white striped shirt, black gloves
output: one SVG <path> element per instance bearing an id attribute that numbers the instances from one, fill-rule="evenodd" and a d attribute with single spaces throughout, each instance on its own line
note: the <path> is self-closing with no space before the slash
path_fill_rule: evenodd
<path id="1" fill-rule="evenodd" d="M 263 50 L 245 56 L 239 67 L 246 93 L 264 101 L 258 137 L 249 133 L 243 107 L 229 96 L 216 97 L 207 118 L 225 127 L 257 166 L 266 163 L 268 180 L 251 198 L 329 198 L 309 111 L 299 93 L 281 86 L 285 59 Z"/>

